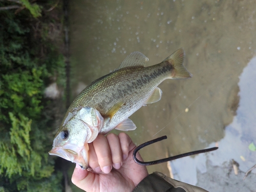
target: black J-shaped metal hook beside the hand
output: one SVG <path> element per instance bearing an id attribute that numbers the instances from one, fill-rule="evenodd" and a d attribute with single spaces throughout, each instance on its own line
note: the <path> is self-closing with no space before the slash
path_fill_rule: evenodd
<path id="1" fill-rule="evenodd" d="M 147 166 L 147 165 L 153 165 L 153 164 L 158 164 L 158 163 L 163 163 L 163 162 L 167 162 L 167 161 L 172 161 L 172 160 L 175 160 L 175 159 L 179 159 L 179 158 L 182 158 L 182 157 L 186 157 L 186 156 L 190 156 L 190 155 L 196 155 L 196 154 L 199 154 L 199 153 L 206 153 L 206 152 L 210 152 L 210 151 L 214 151 L 214 150 L 217 150 L 218 147 L 214 147 L 214 148 L 209 148 L 209 149 L 203 149 L 203 150 L 198 150 L 198 151 L 192 151 L 192 152 L 188 152 L 188 153 L 183 153 L 183 154 L 180 154 L 180 155 L 176 155 L 176 156 L 173 156 L 173 157 L 167 157 L 167 158 L 164 158 L 164 159 L 159 159 L 159 160 L 155 160 L 155 161 L 148 161 L 148 162 L 143 162 L 143 161 L 140 161 L 137 159 L 136 157 L 136 154 L 139 150 L 141 150 L 142 148 L 148 146 L 148 145 L 151 145 L 152 143 L 155 143 L 155 142 L 158 142 L 158 141 L 161 141 L 163 139 L 167 139 L 167 136 L 164 135 L 162 137 L 158 137 L 156 139 L 153 139 L 153 140 L 150 140 L 150 141 L 147 141 L 147 142 L 144 142 L 142 143 L 141 145 L 139 145 L 137 148 L 135 148 L 134 152 L 133 152 L 133 159 L 136 163 L 140 164 L 140 165 L 144 165 L 144 166 Z"/>

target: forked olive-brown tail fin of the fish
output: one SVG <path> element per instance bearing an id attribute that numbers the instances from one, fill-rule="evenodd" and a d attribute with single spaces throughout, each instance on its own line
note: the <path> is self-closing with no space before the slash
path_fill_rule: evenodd
<path id="1" fill-rule="evenodd" d="M 192 77 L 187 69 L 183 66 L 183 60 L 185 57 L 185 52 L 182 48 L 174 52 L 172 55 L 163 60 L 163 63 L 172 66 L 171 74 L 169 79 L 187 79 Z"/>

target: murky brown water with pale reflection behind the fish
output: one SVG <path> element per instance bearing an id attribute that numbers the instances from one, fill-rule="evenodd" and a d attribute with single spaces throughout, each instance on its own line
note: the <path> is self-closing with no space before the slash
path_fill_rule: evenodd
<path id="1" fill-rule="evenodd" d="M 165 80 L 159 85 L 161 101 L 131 116 L 137 129 L 127 134 L 135 143 L 168 137 L 141 151 L 145 161 L 218 145 L 216 152 L 171 163 L 175 179 L 206 189 L 219 175 L 233 184 L 232 159 L 240 164 L 240 174 L 256 163 L 256 152 L 248 149 L 251 142 L 256 145 L 255 1 L 75 0 L 70 4 L 73 98 L 131 52 L 147 56 L 148 65 L 180 47 L 186 52 L 184 65 L 193 78 Z M 211 167 L 224 165 L 226 172 L 211 171 L 211 176 L 201 178 L 214 170 Z M 163 163 L 147 169 L 169 175 L 166 167 Z M 253 184 L 252 178 L 247 180 Z M 217 186 L 222 185 L 216 182 L 209 189 L 224 190 Z"/>

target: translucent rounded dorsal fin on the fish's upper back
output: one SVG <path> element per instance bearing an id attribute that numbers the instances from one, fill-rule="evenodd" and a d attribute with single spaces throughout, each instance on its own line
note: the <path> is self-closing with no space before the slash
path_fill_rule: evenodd
<path id="1" fill-rule="evenodd" d="M 117 69 L 129 66 L 145 66 L 149 59 L 140 52 L 133 52 L 127 56 Z"/>

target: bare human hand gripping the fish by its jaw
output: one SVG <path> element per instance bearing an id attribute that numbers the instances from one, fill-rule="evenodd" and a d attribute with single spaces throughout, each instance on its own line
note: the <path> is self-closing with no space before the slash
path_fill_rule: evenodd
<path id="1" fill-rule="evenodd" d="M 86 191 L 132 191 L 148 172 L 133 160 L 136 145 L 125 133 L 98 135 L 89 143 L 89 165 L 94 173 L 76 164 L 72 182 Z M 142 161 L 137 153 L 137 158 Z"/>

